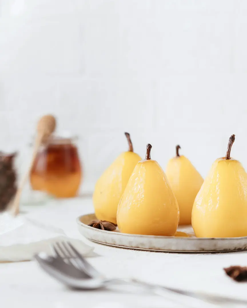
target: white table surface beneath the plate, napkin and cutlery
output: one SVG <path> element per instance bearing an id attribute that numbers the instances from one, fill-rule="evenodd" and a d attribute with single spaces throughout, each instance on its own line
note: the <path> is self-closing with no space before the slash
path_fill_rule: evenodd
<path id="1" fill-rule="evenodd" d="M 230 265 L 247 265 L 247 252 L 156 253 L 90 242 L 79 234 L 75 222 L 79 215 L 93 213 L 90 197 L 49 201 L 45 205 L 25 206 L 23 210 L 28 211 L 27 215 L 58 226 L 69 236 L 81 238 L 94 246 L 95 256 L 88 260 L 109 277 L 135 277 L 247 300 L 247 283 L 234 282 L 223 271 L 223 267 Z M 157 295 L 114 290 L 68 290 L 42 272 L 34 261 L 0 264 L 0 302 L 1 308 L 16 305 L 18 308 L 183 307 Z"/>

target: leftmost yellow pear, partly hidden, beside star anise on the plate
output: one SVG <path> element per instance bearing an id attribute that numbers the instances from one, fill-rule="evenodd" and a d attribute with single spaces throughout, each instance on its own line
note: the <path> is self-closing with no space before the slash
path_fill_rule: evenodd
<path id="1" fill-rule="evenodd" d="M 94 194 L 93 203 L 95 215 L 100 220 L 117 223 L 116 215 L 119 200 L 122 197 L 129 177 L 141 157 L 133 152 L 133 146 L 129 133 L 127 137 L 129 150 L 121 153 L 114 162 L 105 170 L 98 179 Z"/>

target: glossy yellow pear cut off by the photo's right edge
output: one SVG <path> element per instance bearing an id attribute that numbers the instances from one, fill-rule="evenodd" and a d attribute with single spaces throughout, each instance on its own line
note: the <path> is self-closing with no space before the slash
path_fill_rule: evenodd
<path id="1" fill-rule="evenodd" d="M 192 226 L 197 237 L 247 236 L 247 175 L 230 157 L 235 135 L 225 157 L 216 159 L 195 198 Z"/>

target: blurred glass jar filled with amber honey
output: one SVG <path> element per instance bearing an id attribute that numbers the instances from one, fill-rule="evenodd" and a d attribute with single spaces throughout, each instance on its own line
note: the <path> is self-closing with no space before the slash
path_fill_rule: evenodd
<path id="1" fill-rule="evenodd" d="M 75 138 L 51 136 L 39 152 L 30 172 L 32 190 L 57 198 L 77 196 L 82 167 Z"/>

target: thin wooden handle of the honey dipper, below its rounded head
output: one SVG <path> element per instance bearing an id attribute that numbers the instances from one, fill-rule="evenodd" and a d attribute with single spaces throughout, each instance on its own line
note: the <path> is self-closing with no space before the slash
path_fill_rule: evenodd
<path id="1" fill-rule="evenodd" d="M 31 169 L 33 167 L 33 164 L 34 164 L 34 161 L 36 159 L 36 155 L 38 153 L 38 150 L 39 150 L 39 147 L 41 145 L 43 137 L 44 137 L 43 133 L 38 134 L 37 137 L 36 137 L 34 148 L 33 148 L 33 155 L 32 155 L 32 159 L 31 159 L 29 168 L 28 168 L 27 172 L 25 173 L 25 175 L 23 176 L 23 178 L 22 178 L 22 180 L 19 184 L 18 190 L 15 194 L 15 198 L 14 198 L 14 201 L 13 201 L 13 204 L 12 204 L 14 216 L 19 214 L 19 211 L 20 211 L 19 204 L 20 204 L 21 193 L 23 191 L 24 185 L 26 184 L 26 181 L 28 180 L 28 176 L 29 176 Z"/>

